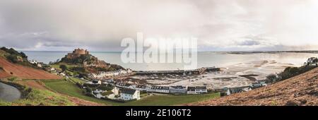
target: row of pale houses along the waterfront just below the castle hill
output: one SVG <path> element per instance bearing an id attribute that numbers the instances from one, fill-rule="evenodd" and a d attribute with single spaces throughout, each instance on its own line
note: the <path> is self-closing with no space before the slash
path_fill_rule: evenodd
<path id="1" fill-rule="evenodd" d="M 92 79 L 105 79 L 105 78 L 112 78 L 112 77 L 116 77 L 116 76 L 130 76 L 133 72 L 131 71 L 131 69 L 126 69 L 126 70 L 119 70 L 119 71 L 101 71 L 98 74 L 95 73 L 90 73 L 90 75 L 88 75 L 90 78 Z"/>

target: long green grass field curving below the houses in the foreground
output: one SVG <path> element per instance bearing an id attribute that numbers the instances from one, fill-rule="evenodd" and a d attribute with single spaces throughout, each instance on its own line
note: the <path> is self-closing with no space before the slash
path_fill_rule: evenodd
<path id="1" fill-rule="evenodd" d="M 134 102 L 113 102 L 109 100 L 100 100 L 94 97 L 88 97 L 83 95 L 82 90 L 78 88 L 73 83 L 66 80 L 43 80 L 43 83 L 47 85 L 50 89 L 60 92 L 65 95 L 78 97 L 83 100 L 88 100 L 92 102 L 98 102 L 103 104 L 110 105 L 124 105 L 124 106 L 144 106 L 144 105 L 178 105 L 178 104 L 187 104 L 190 102 L 199 102 L 202 100 L 209 100 L 216 97 L 220 97 L 219 93 L 210 93 L 204 95 L 152 95 L 147 97 L 142 97 L 141 100 Z"/>

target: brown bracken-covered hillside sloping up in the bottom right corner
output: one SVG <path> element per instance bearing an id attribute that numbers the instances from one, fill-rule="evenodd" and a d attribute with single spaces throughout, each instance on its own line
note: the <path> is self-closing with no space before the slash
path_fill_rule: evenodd
<path id="1" fill-rule="evenodd" d="M 187 105 L 318 105 L 318 68 L 273 85 Z"/>

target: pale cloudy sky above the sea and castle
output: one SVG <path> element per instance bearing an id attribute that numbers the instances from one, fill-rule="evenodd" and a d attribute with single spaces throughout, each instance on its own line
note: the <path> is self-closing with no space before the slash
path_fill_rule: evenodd
<path id="1" fill-rule="evenodd" d="M 0 46 L 121 51 L 143 32 L 199 51 L 317 50 L 317 13 L 317 0 L 1 0 Z"/>

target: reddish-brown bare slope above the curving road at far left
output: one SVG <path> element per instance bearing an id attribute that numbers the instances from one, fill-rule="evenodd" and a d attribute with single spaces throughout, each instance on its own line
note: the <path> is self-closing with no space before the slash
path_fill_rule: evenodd
<path id="1" fill-rule="evenodd" d="M 59 76 L 47 73 L 40 69 L 12 64 L 4 58 L 0 57 L 0 65 L 4 71 L 0 71 L 0 78 L 8 78 L 8 76 L 16 76 L 24 79 L 60 79 Z M 12 73 L 12 74 L 11 74 Z"/>

